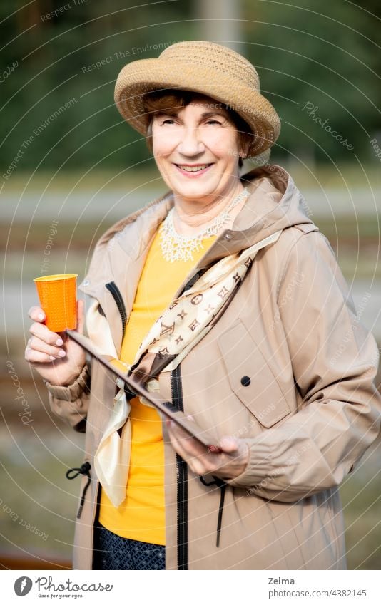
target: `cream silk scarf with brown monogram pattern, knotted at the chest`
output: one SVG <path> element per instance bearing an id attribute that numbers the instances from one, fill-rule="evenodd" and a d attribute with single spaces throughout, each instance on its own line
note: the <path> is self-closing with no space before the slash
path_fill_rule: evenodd
<path id="1" fill-rule="evenodd" d="M 130 368 L 133 377 L 146 383 L 148 390 L 158 390 L 156 376 L 176 368 L 213 328 L 232 301 L 255 254 L 276 242 L 281 232 L 277 231 L 250 248 L 216 262 L 190 289 L 174 299 L 138 348 Z M 118 381 L 118 386 L 120 391 L 114 399 L 113 413 L 94 459 L 98 479 L 114 506 L 121 505 L 126 497 L 131 453 L 130 405 L 121 381 Z M 150 405 L 146 400 L 142 403 Z M 125 423 L 121 438 L 118 429 Z"/>

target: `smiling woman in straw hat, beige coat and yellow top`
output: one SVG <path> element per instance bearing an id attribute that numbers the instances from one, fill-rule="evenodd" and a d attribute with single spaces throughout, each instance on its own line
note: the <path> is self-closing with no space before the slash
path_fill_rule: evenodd
<path id="1" fill-rule="evenodd" d="M 86 430 L 73 567 L 345 569 L 337 486 L 380 429 L 377 346 L 290 175 L 240 175 L 280 131 L 258 73 L 181 42 L 128 63 L 115 100 L 168 192 L 96 245 L 88 335 L 218 447 L 31 309 L 26 359 L 52 410 Z"/>

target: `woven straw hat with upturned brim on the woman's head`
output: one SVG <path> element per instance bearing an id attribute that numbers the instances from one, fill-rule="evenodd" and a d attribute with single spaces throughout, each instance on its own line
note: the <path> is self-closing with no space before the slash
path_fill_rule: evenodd
<path id="1" fill-rule="evenodd" d="M 146 135 L 143 95 L 168 88 L 195 91 L 228 105 L 250 126 L 255 137 L 248 156 L 268 150 L 278 138 L 280 118 L 260 94 L 258 73 L 247 59 L 226 46 L 206 41 L 178 42 L 158 58 L 128 63 L 118 75 L 115 102 L 128 123 Z"/>

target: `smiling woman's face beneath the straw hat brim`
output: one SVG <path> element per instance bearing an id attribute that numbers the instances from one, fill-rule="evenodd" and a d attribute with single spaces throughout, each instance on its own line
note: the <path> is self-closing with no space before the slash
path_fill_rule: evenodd
<path id="1" fill-rule="evenodd" d="M 237 185 L 238 130 L 218 101 L 200 96 L 156 113 L 152 148 L 166 185 L 187 200 L 228 195 Z"/>

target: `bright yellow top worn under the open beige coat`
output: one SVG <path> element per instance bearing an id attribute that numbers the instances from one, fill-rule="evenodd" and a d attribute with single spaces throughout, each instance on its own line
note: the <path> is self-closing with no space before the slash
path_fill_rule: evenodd
<path id="1" fill-rule="evenodd" d="M 203 248 L 193 259 L 168 262 L 160 247 L 160 229 L 143 267 L 131 316 L 121 348 L 121 361 L 133 363 L 141 341 L 183 283 L 188 272 L 213 244 L 214 237 L 203 239 Z M 131 460 L 126 499 L 114 507 L 101 492 L 99 522 L 124 538 L 165 544 L 164 445 L 161 418 L 138 398 L 131 400 Z M 122 433 L 123 437 L 123 433 Z"/>

